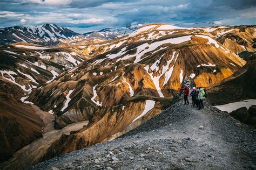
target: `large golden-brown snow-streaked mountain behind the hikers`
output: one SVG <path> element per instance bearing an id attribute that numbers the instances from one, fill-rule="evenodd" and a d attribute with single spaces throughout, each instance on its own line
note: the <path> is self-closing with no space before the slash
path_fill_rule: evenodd
<path id="1" fill-rule="evenodd" d="M 208 87 L 245 64 L 202 29 L 151 24 L 107 43 L 109 52 L 83 61 L 28 98 L 54 113 L 56 128 L 89 121 L 63 134 L 44 159 L 116 138 L 155 117 L 185 78 Z"/>

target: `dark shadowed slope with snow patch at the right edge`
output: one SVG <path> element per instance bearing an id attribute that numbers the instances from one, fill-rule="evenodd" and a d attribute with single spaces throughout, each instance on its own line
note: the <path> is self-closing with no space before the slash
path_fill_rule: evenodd
<path id="1" fill-rule="evenodd" d="M 208 89 L 208 99 L 222 111 L 256 128 L 256 60 Z"/>

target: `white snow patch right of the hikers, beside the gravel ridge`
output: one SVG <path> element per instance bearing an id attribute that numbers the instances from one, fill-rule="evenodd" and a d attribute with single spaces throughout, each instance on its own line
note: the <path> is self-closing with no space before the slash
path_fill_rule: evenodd
<path id="1" fill-rule="evenodd" d="M 248 99 L 240 102 L 228 103 L 224 105 L 215 105 L 214 107 L 218 108 L 221 111 L 226 111 L 228 113 L 237 110 L 242 107 L 249 109 L 252 105 L 256 105 L 256 99 Z"/>

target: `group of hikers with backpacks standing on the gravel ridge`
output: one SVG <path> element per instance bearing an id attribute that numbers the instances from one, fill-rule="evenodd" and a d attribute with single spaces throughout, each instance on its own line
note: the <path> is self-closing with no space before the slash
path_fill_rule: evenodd
<path id="1" fill-rule="evenodd" d="M 192 91 L 190 92 L 190 89 L 185 86 L 184 88 L 179 88 L 180 90 L 183 90 L 184 93 L 184 104 L 190 104 L 188 102 L 188 96 L 192 97 L 192 106 L 197 107 L 198 110 L 204 108 L 203 100 L 205 97 L 207 97 L 207 91 L 203 87 L 199 87 L 198 89 L 196 87 L 192 88 Z"/>

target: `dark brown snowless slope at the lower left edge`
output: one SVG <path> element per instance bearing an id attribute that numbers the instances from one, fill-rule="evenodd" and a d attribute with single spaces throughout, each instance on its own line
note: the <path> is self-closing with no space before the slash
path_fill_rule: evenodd
<path id="1" fill-rule="evenodd" d="M 0 162 L 42 137 L 43 121 L 29 104 L 19 100 L 23 93 L 16 84 L 0 77 Z"/>

